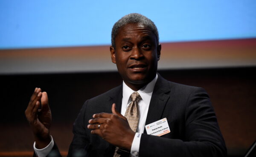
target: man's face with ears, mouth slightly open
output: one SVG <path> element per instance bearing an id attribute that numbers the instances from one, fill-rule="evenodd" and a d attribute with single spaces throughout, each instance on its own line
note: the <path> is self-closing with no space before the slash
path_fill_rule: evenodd
<path id="1" fill-rule="evenodd" d="M 161 45 L 157 45 L 157 38 L 149 28 L 138 23 L 127 24 L 119 29 L 115 43 L 116 48 L 110 48 L 111 59 L 125 84 L 133 89 L 156 76 Z"/>

